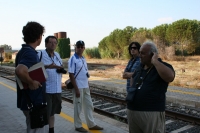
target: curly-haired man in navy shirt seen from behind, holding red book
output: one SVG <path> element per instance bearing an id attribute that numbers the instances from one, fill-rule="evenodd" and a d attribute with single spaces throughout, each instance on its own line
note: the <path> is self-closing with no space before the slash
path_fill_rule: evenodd
<path id="1" fill-rule="evenodd" d="M 30 115 L 27 107 L 28 98 L 30 98 L 30 101 L 34 106 L 46 103 L 44 97 L 46 88 L 45 83 L 39 83 L 36 80 L 32 80 L 28 74 L 28 69 L 40 62 L 35 49 L 41 43 L 44 30 L 44 27 L 37 22 L 28 22 L 23 27 L 23 40 L 26 44 L 22 44 L 22 48 L 18 52 L 15 60 L 15 73 L 17 77 L 24 83 L 28 84 L 28 89 L 26 90 L 21 90 L 17 84 L 17 107 L 23 111 L 26 117 L 27 133 L 48 132 L 48 126 L 31 129 Z"/>

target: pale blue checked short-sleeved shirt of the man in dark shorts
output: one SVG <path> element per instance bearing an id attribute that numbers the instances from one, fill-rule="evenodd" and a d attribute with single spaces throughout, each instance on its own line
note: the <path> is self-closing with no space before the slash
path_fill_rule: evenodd
<path id="1" fill-rule="evenodd" d="M 43 50 L 41 52 L 38 52 L 38 56 L 39 58 L 41 57 L 41 62 L 43 62 L 44 65 L 50 65 L 52 63 L 56 64 L 57 66 L 62 65 L 62 59 L 57 52 L 54 52 L 53 57 L 49 57 L 46 50 Z M 48 74 L 48 78 L 46 80 L 46 93 L 61 93 L 62 74 L 57 73 L 56 68 L 46 69 L 46 72 Z"/>

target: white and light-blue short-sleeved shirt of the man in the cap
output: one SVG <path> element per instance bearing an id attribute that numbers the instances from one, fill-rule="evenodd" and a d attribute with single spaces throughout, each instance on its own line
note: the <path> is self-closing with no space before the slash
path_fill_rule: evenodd
<path id="1" fill-rule="evenodd" d="M 68 61 L 68 72 L 73 73 L 74 76 L 76 76 L 79 72 L 75 79 L 78 89 L 89 88 L 87 77 L 88 68 L 87 62 L 84 57 L 79 57 L 76 53 L 73 56 L 71 56 L 71 58 Z"/>

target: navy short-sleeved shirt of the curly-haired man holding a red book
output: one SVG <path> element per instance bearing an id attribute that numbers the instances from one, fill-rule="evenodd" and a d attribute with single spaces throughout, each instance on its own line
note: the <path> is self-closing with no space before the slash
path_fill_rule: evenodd
<path id="1" fill-rule="evenodd" d="M 35 51 L 35 49 L 28 44 L 22 44 L 22 48 L 18 52 L 15 59 L 16 63 L 15 66 L 17 67 L 18 64 L 22 64 L 27 68 L 30 68 L 31 66 L 35 65 L 38 62 L 39 58 L 37 56 L 37 51 Z M 17 107 L 20 108 L 21 110 L 28 110 L 26 94 L 28 94 L 28 96 L 31 99 L 31 102 L 34 105 L 39 105 L 41 103 L 46 102 L 44 97 L 45 89 L 46 89 L 45 83 L 42 83 L 42 87 L 36 90 L 30 90 L 30 89 L 21 90 L 17 84 Z"/>

